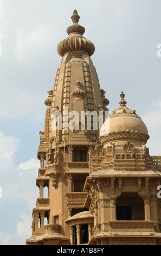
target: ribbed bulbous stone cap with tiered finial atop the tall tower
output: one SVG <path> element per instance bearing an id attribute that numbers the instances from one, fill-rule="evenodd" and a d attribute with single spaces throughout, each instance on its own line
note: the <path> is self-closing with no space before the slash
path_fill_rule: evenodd
<path id="1" fill-rule="evenodd" d="M 57 45 L 57 52 L 61 57 L 66 53 L 70 53 L 72 57 L 81 57 L 82 53 L 92 56 L 95 51 L 94 44 L 82 36 L 85 33 L 85 28 L 78 25 L 80 16 L 76 10 L 73 11 L 71 19 L 73 25 L 67 28 L 69 37 Z"/>

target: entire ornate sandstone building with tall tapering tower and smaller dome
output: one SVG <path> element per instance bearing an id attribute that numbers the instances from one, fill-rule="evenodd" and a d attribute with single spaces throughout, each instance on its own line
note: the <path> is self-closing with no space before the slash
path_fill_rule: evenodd
<path id="1" fill-rule="evenodd" d="M 37 154 L 40 197 L 26 243 L 159 244 L 160 157 L 149 155 L 147 128 L 126 107 L 123 92 L 120 106 L 107 118 L 109 101 L 91 59 L 94 44 L 83 36 L 76 10 L 71 18 L 68 37 L 57 45 L 62 62 L 54 89 L 44 101 Z"/>

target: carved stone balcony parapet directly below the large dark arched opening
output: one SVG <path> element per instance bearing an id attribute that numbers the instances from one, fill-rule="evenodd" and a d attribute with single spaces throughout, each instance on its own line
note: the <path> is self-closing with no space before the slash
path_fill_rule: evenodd
<path id="1" fill-rule="evenodd" d="M 112 231 L 154 231 L 155 221 L 108 221 Z"/>

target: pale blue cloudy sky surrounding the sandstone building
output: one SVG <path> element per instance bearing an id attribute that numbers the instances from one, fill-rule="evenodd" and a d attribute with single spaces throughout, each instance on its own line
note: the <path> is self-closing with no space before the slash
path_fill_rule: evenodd
<path id="1" fill-rule="evenodd" d="M 145 122 L 151 155 L 161 155 L 160 0 L 0 0 L 0 245 L 24 245 L 39 191 L 37 149 L 44 100 L 53 89 L 77 9 L 110 113 L 123 90 L 127 107 Z"/>

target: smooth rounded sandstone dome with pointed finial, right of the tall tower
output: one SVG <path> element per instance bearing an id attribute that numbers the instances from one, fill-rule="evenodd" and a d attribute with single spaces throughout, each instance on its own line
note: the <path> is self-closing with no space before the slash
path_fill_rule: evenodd
<path id="1" fill-rule="evenodd" d="M 136 110 L 126 107 L 125 94 L 121 92 L 120 106 L 113 111 L 100 130 L 100 141 L 105 143 L 118 139 L 135 139 L 147 142 L 149 139 L 147 127 L 136 114 Z M 105 126 L 109 126 L 108 134 L 104 133 Z"/>

